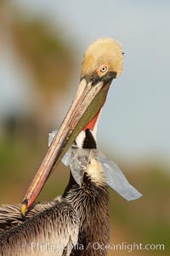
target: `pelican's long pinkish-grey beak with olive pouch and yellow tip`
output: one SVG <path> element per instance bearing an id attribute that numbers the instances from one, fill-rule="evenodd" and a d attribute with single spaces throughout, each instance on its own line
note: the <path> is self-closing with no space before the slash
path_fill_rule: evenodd
<path id="1" fill-rule="evenodd" d="M 114 75 L 115 76 L 115 75 Z M 113 74 L 107 75 L 101 79 L 98 84 L 92 84 L 87 79 L 82 79 L 77 94 L 71 103 L 71 108 L 66 113 L 65 119 L 59 128 L 59 132 L 54 137 L 54 141 L 48 148 L 48 152 L 42 160 L 35 177 L 27 189 L 25 198 L 22 202 L 21 212 L 23 215 L 37 199 L 44 183 L 47 181 L 49 174 L 53 171 L 54 166 L 70 148 L 77 135 L 88 123 L 94 119 L 96 113 L 105 103 L 107 91 L 114 78 Z"/>

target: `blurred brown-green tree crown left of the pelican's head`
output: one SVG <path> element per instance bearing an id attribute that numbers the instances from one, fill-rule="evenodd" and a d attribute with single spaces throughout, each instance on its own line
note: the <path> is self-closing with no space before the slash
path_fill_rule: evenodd
<path id="1" fill-rule="evenodd" d="M 20 17 L 12 22 L 14 44 L 31 69 L 47 107 L 70 80 L 74 67 L 71 45 L 61 39 L 62 31 L 50 28 L 44 20 L 22 20 Z"/>

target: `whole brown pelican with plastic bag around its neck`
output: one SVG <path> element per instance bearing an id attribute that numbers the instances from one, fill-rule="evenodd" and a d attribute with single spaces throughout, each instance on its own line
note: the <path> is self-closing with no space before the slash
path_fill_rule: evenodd
<path id="1" fill-rule="evenodd" d="M 77 94 L 22 205 L 0 208 L 0 255 L 107 254 L 110 237 L 107 183 L 127 200 L 140 196 L 118 166 L 106 161 L 96 149 L 99 114 L 112 79 L 120 73 L 120 44 L 102 38 L 89 46 L 82 61 Z M 63 161 L 70 166 L 71 174 L 63 195 L 54 201 L 34 203 L 64 155 Z"/>

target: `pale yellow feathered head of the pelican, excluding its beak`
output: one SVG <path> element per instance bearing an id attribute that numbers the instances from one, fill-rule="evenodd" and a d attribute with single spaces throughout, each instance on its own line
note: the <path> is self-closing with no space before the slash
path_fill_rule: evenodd
<path id="1" fill-rule="evenodd" d="M 84 54 L 81 77 L 101 79 L 106 73 L 122 73 L 122 47 L 112 38 L 100 38 Z"/>

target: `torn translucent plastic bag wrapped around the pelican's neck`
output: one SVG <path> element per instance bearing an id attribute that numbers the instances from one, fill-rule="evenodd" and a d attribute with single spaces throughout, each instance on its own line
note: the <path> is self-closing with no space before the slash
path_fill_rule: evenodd
<path id="1" fill-rule="evenodd" d="M 49 133 L 48 146 L 52 143 L 56 133 L 57 131 Z M 62 162 L 65 166 L 70 166 L 72 176 L 82 186 L 82 177 L 91 159 L 99 160 L 105 173 L 106 183 L 124 199 L 132 201 L 142 196 L 127 181 L 119 166 L 113 160 L 108 160 L 105 154 L 101 153 L 98 149 L 71 147 L 62 158 Z"/>

